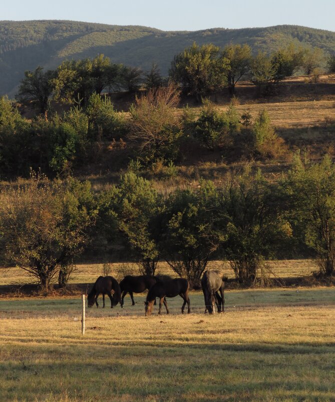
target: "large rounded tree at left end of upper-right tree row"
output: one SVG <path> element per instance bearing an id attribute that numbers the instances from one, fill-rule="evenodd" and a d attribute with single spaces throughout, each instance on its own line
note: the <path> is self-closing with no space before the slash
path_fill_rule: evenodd
<path id="1" fill-rule="evenodd" d="M 223 83 L 219 74 L 220 49 L 212 44 L 199 47 L 196 43 L 176 55 L 171 63 L 170 77 L 179 83 L 187 94 L 200 97 Z"/>

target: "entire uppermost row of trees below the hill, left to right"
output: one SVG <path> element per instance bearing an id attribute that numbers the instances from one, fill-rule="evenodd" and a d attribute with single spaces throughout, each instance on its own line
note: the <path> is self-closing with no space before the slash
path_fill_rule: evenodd
<path id="1" fill-rule="evenodd" d="M 334 71 L 333 58 L 332 55 L 327 60 L 329 72 Z M 257 86 L 258 94 L 265 94 L 298 70 L 308 75 L 319 71 L 324 59 L 319 48 L 296 49 L 290 45 L 272 54 L 253 55 L 248 45 L 231 44 L 221 49 L 212 44 L 198 46 L 194 43 L 175 56 L 169 78 L 163 78 L 156 64 L 144 73 L 138 67 L 114 64 L 101 54 L 93 59 L 64 61 L 56 70 L 44 71 L 38 67 L 35 71 L 26 71 L 17 99 L 24 103 L 33 101 L 39 112 L 45 113 L 51 96 L 63 103 L 77 102 L 85 106 L 93 93 L 121 89 L 136 92 L 141 86 L 157 88 L 170 79 L 200 101 L 201 96 L 222 87 L 227 87 L 233 95 L 242 77 Z"/>

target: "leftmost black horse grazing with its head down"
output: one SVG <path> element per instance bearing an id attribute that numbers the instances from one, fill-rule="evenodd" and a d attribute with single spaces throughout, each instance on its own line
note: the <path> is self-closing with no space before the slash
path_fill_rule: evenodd
<path id="1" fill-rule="evenodd" d="M 99 277 L 91 292 L 87 295 L 88 307 L 95 304 L 99 307 L 98 297 L 102 293 L 103 308 L 105 307 L 105 295 L 107 294 L 111 300 L 111 308 L 118 303 L 121 304 L 121 290 L 118 281 L 113 277 Z"/>

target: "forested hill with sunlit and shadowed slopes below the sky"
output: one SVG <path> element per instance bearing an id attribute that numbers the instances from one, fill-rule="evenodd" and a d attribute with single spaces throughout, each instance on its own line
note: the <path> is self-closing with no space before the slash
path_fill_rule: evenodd
<path id="1" fill-rule="evenodd" d="M 140 26 L 116 26 L 75 21 L 0 22 L 0 94 L 13 96 L 25 70 L 38 65 L 55 68 L 65 59 L 99 53 L 114 63 L 149 70 L 157 63 L 167 74 L 175 54 L 193 42 L 247 43 L 254 51 L 271 52 L 290 42 L 335 51 L 335 32 L 299 26 L 213 28 L 196 32 L 164 32 Z"/>

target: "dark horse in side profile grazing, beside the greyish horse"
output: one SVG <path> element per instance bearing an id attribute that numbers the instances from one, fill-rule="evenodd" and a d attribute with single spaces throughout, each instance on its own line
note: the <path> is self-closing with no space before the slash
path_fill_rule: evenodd
<path id="1" fill-rule="evenodd" d="M 145 302 L 145 315 L 150 316 L 156 297 L 159 298 L 158 314 L 161 314 L 163 303 L 166 308 L 166 314 L 169 314 L 165 297 L 176 297 L 178 295 L 184 300 L 181 312 L 184 313 L 185 305 L 187 303 L 187 313 L 190 313 L 190 298 L 188 297 L 189 288 L 190 284 L 188 283 L 187 279 L 183 278 L 168 281 L 157 281 L 155 285 L 149 289 L 147 300 Z"/>

